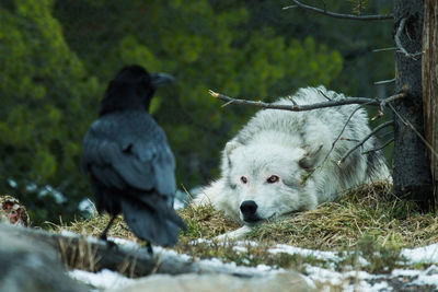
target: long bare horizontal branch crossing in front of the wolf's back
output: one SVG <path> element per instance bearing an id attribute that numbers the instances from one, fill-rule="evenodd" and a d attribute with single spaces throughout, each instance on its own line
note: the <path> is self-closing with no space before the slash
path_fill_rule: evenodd
<path id="1" fill-rule="evenodd" d="M 229 104 L 235 104 L 235 105 L 251 105 L 251 106 L 256 106 L 261 108 L 270 108 L 270 109 L 284 109 L 284 110 L 291 110 L 291 112 L 304 112 L 304 110 L 312 110 L 312 109 L 318 109 L 318 108 L 324 108 L 324 107 L 334 107 L 334 106 L 342 106 L 342 105 L 351 105 L 351 104 L 361 104 L 361 105 L 378 105 L 380 107 L 384 106 L 389 102 L 395 101 L 397 98 L 402 98 L 405 96 L 404 93 L 400 93 L 396 95 L 392 95 L 390 97 L 387 97 L 384 100 L 378 100 L 378 98 L 368 98 L 368 97 L 348 97 L 345 100 L 333 100 L 333 101 L 327 101 L 324 103 L 315 103 L 315 104 L 309 104 L 309 105 L 298 105 L 295 102 L 292 102 L 292 105 L 281 105 L 281 104 L 270 104 L 270 103 L 265 103 L 262 101 L 254 102 L 254 101 L 247 101 L 247 100 L 239 100 L 239 98 L 233 98 L 217 92 L 214 92 L 212 90 L 208 91 L 211 96 L 215 98 L 221 100 L 226 102 L 224 105 Z"/>

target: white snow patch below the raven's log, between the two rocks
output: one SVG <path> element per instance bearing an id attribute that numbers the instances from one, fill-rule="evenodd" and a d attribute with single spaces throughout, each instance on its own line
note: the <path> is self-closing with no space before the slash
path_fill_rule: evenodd
<path id="1" fill-rule="evenodd" d="M 83 270 L 72 270 L 69 271 L 69 276 L 78 281 L 85 284 L 92 285 L 94 288 L 106 290 L 106 289 L 117 289 L 126 287 L 127 284 L 135 283 L 136 280 L 126 278 L 125 276 L 103 269 L 96 273 L 83 271 Z"/>

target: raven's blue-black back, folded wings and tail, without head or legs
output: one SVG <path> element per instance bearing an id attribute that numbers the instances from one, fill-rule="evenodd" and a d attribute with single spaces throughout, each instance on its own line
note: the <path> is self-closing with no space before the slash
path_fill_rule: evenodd
<path id="1" fill-rule="evenodd" d="M 123 212 L 140 238 L 173 246 L 184 221 L 173 210 L 175 162 L 163 130 L 145 112 L 119 112 L 95 121 L 83 139 L 97 209 Z"/>

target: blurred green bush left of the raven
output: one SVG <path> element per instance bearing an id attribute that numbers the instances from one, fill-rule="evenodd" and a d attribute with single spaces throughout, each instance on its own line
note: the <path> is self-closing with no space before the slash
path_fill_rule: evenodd
<path id="1" fill-rule="evenodd" d="M 32 220 L 56 220 L 77 210 L 84 190 L 80 141 L 101 86 L 66 43 L 53 1 L 2 1 L 0 17 L 1 189 Z M 72 190 L 72 203 L 43 196 L 46 185 Z"/>

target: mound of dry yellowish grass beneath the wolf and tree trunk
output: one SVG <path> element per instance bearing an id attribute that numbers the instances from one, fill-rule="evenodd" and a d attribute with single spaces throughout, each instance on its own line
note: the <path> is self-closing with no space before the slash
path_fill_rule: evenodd
<path id="1" fill-rule="evenodd" d="M 435 213 L 420 213 L 401 201 L 391 186 L 378 183 L 355 189 L 338 202 L 260 225 L 249 238 L 293 246 L 337 250 L 372 237 L 383 247 L 414 247 L 438 242 Z"/>

